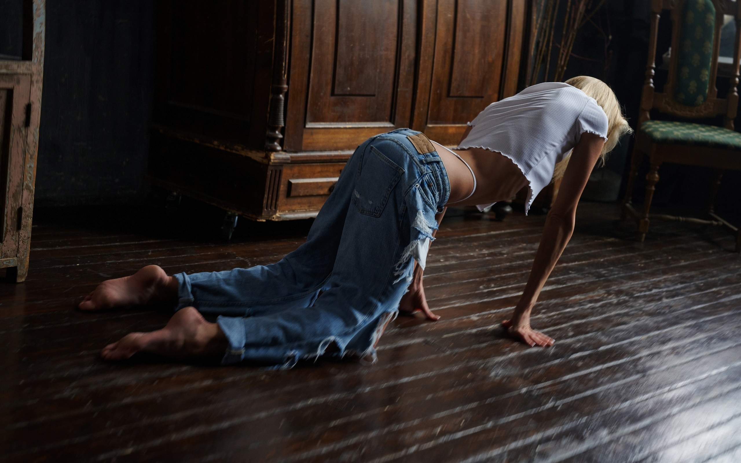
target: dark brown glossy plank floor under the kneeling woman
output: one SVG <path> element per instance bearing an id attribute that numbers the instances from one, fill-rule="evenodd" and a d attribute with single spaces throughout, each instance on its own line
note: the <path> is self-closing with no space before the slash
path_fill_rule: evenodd
<path id="1" fill-rule="evenodd" d="M 105 344 L 169 314 L 74 306 L 143 264 L 276 261 L 307 222 L 243 221 L 225 244 L 191 233 L 192 217 L 38 217 L 27 282 L 0 284 L 1 461 L 741 461 L 741 258 L 725 230 L 656 224 L 637 243 L 614 205 L 582 204 L 532 319 L 556 339 L 544 350 L 499 327 L 544 216 L 451 213 L 425 273 L 439 322 L 399 317 L 372 366 L 277 371 L 102 362 Z"/>

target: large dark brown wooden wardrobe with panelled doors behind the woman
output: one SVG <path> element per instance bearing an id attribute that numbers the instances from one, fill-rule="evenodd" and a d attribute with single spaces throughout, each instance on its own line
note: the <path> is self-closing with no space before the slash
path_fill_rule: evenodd
<path id="1" fill-rule="evenodd" d="M 153 184 L 316 216 L 368 137 L 457 144 L 516 93 L 526 0 L 160 0 Z"/>

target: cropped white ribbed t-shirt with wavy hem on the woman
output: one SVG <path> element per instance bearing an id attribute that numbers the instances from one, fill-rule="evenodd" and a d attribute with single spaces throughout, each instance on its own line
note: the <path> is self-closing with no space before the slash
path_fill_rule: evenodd
<path id="1" fill-rule="evenodd" d="M 540 190 L 551 183 L 556 164 L 574 148 L 582 133 L 596 133 L 606 140 L 609 123 L 602 107 L 582 90 L 561 82 L 544 82 L 489 104 L 468 125 L 473 128 L 458 149 L 483 148 L 514 161 L 530 182 L 527 214 Z M 489 206 L 476 207 L 483 210 Z"/>

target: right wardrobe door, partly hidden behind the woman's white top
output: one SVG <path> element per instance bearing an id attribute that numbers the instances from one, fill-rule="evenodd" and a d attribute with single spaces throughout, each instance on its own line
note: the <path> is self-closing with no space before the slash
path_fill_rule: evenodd
<path id="1" fill-rule="evenodd" d="M 425 7 L 422 55 L 431 63 L 427 76 L 420 70 L 419 92 L 429 96 L 426 113 L 415 108 L 414 127 L 440 143 L 456 144 L 466 122 L 514 93 L 525 2 L 439 0 Z M 423 104 L 425 96 L 417 101 Z"/>

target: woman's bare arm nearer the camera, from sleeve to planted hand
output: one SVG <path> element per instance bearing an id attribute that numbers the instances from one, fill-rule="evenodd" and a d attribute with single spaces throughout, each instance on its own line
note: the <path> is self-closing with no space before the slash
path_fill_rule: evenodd
<path id="1" fill-rule="evenodd" d="M 525 284 L 525 291 L 514 309 L 512 318 L 502 322 L 511 336 L 531 346 L 538 344 L 545 347 L 554 343 L 553 339 L 530 327 L 530 313 L 545 280 L 551 275 L 568 240 L 571 239 L 576 219 L 576 205 L 579 204 L 579 197 L 582 196 L 604 144 L 605 140 L 600 136 L 582 133 L 579 143 L 571 153 L 571 160 L 568 161 L 556 202 L 545 219 L 545 230 L 535 254 L 528 283 Z"/>

